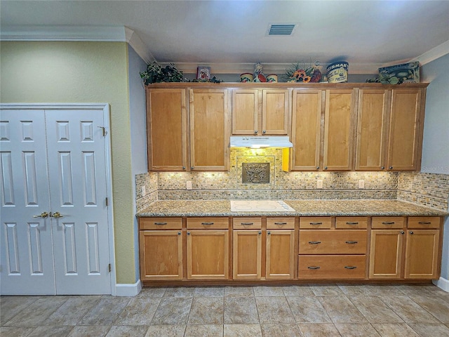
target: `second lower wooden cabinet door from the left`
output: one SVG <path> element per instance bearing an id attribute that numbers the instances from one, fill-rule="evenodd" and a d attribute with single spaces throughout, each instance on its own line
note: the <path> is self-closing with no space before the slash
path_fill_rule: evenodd
<path id="1" fill-rule="evenodd" d="M 187 279 L 229 278 L 229 230 L 187 231 Z"/>

